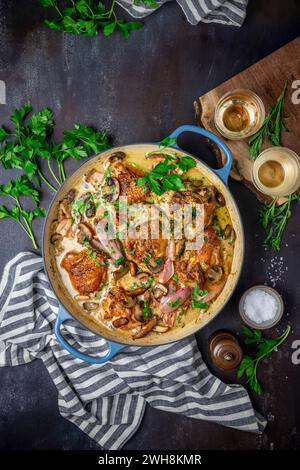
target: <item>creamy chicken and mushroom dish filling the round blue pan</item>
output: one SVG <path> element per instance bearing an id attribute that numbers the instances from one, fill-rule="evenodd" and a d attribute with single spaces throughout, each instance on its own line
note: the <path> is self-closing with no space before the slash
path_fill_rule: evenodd
<path id="1" fill-rule="evenodd" d="M 202 208 L 200 246 L 188 248 L 187 235 L 175 235 L 175 212 L 157 211 L 162 205 L 190 206 L 194 225 Z M 135 217 L 143 229 L 153 207 L 159 228 L 170 224 L 169 236 L 124 237 Z M 117 230 L 108 237 L 113 217 Z M 138 339 L 207 319 L 231 273 L 235 231 L 224 196 L 196 160 L 170 149 L 132 150 L 112 153 L 82 177 L 60 202 L 51 240 L 62 283 L 82 312 Z"/>

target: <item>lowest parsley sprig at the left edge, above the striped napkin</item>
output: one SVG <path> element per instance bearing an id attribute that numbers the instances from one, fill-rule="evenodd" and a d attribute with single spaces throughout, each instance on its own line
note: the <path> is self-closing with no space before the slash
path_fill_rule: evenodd
<path id="1" fill-rule="evenodd" d="M 26 175 L 11 180 L 6 185 L 0 185 L 0 195 L 8 196 L 14 201 L 14 205 L 7 207 L 0 205 L 0 219 L 10 218 L 18 222 L 26 235 L 31 239 L 34 248 L 37 248 L 36 239 L 32 229 L 32 222 L 36 217 L 45 217 L 46 211 L 39 207 L 39 192 L 33 186 Z M 36 207 L 26 210 L 22 206 L 21 197 L 31 197 Z"/>

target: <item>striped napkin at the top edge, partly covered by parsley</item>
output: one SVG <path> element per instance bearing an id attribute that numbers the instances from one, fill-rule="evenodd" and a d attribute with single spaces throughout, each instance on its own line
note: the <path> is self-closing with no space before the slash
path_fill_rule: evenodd
<path id="1" fill-rule="evenodd" d="M 143 0 L 117 0 L 128 13 L 135 18 L 144 18 L 153 13 L 164 3 L 172 0 L 157 1 L 157 7 L 151 8 L 149 2 Z M 221 23 L 231 26 L 242 26 L 246 17 L 248 0 L 176 0 L 182 8 L 187 20 L 195 25 L 199 21 L 205 23 Z"/>

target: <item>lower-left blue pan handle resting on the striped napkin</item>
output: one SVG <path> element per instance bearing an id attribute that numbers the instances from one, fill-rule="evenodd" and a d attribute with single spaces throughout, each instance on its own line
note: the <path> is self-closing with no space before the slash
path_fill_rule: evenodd
<path id="1" fill-rule="evenodd" d="M 107 340 L 109 350 L 105 356 L 96 357 L 84 354 L 71 346 L 71 344 L 69 344 L 68 341 L 66 341 L 66 339 L 63 337 L 60 328 L 61 325 L 67 320 L 73 320 L 73 317 L 64 309 L 61 304 L 59 304 L 58 315 L 54 325 L 54 333 L 59 344 L 77 359 L 89 362 L 90 364 L 104 364 L 105 362 L 110 361 L 121 349 L 126 347 L 125 344 L 114 343 L 113 341 Z"/>

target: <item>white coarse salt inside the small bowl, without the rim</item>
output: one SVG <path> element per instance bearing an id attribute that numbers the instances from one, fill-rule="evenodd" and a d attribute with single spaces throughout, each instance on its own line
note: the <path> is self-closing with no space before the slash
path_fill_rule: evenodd
<path id="1" fill-rule="evenodd" d="M 254 289 L 246 295 L 244 301 L 245 315 L 254 323 L 273 320 L 278 311 L 278 303 L 273 295 L 262 289 Z"/>

